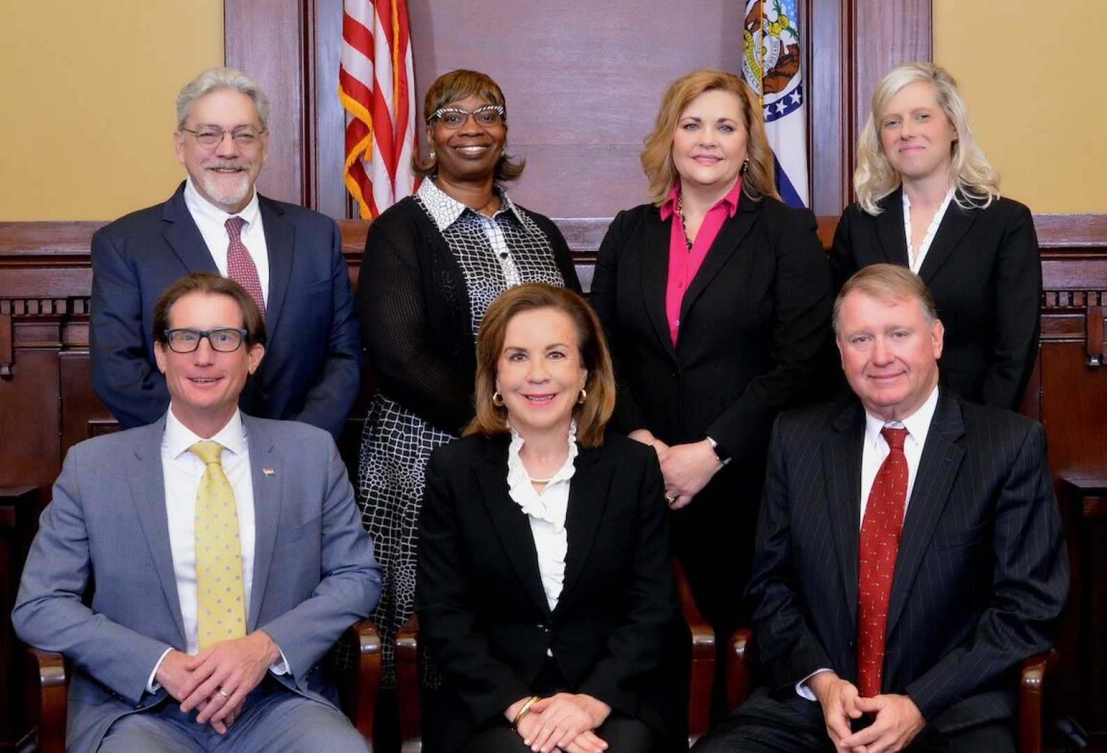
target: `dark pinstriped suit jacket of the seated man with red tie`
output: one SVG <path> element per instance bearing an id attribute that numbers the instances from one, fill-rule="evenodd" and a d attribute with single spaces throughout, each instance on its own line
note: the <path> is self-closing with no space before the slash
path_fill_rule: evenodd
<path id="1" fill-rule="evenodd" d="M 782 415 L 769 448 L 754 630 L 776 698 L 819 715 L 796 682 L 821 668 L 857 679 L 863 436 L 855 400 Z M 939 732 L 1012 719 L 1010 671 L 1049 647 L 1067 594 L 1042 425 L 942 391 L 903 520 L 881 692 L 910 695 Z"/>

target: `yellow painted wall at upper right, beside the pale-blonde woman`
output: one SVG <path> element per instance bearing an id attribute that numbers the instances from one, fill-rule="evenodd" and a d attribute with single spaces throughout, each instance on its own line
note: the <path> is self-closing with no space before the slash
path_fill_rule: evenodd
<path id="1" fill-rule="evenodd" d="M 1035 213 L 1107 212 L 1107 2 L 933 0 L 934 61 L 958 80 L 1002 192 Z"/>

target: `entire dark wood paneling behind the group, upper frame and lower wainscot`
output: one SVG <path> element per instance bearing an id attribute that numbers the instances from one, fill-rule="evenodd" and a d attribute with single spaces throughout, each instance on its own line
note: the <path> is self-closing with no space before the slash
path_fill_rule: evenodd
<path id="1" fill-rule="evenodd" d="M 576 254 L 586 288 L 610 217 L 642 200 L 637 164 L 660 92 L 697 65 L 736 65 L 736 3 L 631 0 L 561 3 L 410 0 L 416 95 L 458 66 L 490 73 L 510 111 L 511 151 L 528 157 L 513 189 L 523 204 L 555 217 Z M 805 91 L 813 208 L 829 239 L 851 199 L 856 134 L 876 81 L 896 63 L 929 59 L 930 0 L 798 0 L 805 35 Z M 248 71 L 275 103 L 262 193 L 350 216 L 341 187 L 343 116 L 334 95 L 341 0 L 235 0 L 226 3 L 227 62 Z M 704 32 L 704 30 L 708 30 Z M 873 40 L 879 40 L 875 43 Z M 279 42 L 279 43 L 277 43 Z M 151 197 L 151 202 L 164 197 Z M 1049 437 L 1055 478 L 1107 476 L 1107 216 L 1035 217 L 1045 295 L 1042 350 L 1023 411 Z M 0 223 L 0 487 L 39 487 L 44 504 L 65 451 L 114 427 L 92 392 L 89 370 L 89 245 L 102 223 Z M 366 224 L 341 223 L 356 282 Z M 354 446 L 371 391 L 343 437 Z M 1063 507 L 1074 563 L 1078 537 Z M 1099 551 L 1107 540 L 1095 539 Z M 1069 609 L 1062 666 L 1051 693 L 1077 713 L 1077 629 L 1107 635 L 1105 579 L 1092 613 Z M 1084 584 L 1074 571 L 1074 594 Z M 4 679 L 0 678 L 0 681 Z M 1107 726 L 1098 691 L 1088 725 Z M 8 710 L 0 709 L 0 714 Z"/>

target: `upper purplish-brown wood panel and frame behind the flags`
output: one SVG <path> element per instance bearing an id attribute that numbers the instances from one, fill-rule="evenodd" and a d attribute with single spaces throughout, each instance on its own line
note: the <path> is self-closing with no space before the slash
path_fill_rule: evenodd
<path id="1" fill-rule="evenodd" d="M 227 3 L 227 64 L 273 101 L 262 193 L 351 217 L 335 91 L 341 0 Z M 890 68 L 930 60 L 930 0 L 797 0 L 808 163 L 817 215 L 850 203 L 857 133 Z M 610 218 L 645 200 L 638 162 L 665 85 L 694 68 L 739 70 L 732 0 L 408 0 L 416 123 L 431 82 L 456 68 L 492 75 L 508 109 L 508 151 L 527 158 L 513 197 L 550 217 Z M 275 39 L 289 40 L 275 45 Z M 880 43 L 873 43 L 873 40 Z M 422 138 L 423 134 L 416 127 Z"/>

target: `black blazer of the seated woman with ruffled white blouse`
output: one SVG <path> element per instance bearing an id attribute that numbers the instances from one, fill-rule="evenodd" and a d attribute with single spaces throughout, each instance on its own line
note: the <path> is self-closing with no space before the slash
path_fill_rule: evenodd
<path id="1" fill-rule="evenodd" d="M 547 649 L 575 692 L 666 733 L 681 715 L 664 672 L 680 615 L 656 454 L 618 435 L 581 448 L 551 612 L 530 525 L 508 495 L 507 447 L 507 436 L 466 437 L 427 465 L 415 604 L 445 682 L 425 716 L 431 750 L 458 750 L 530 694 Z"/>

